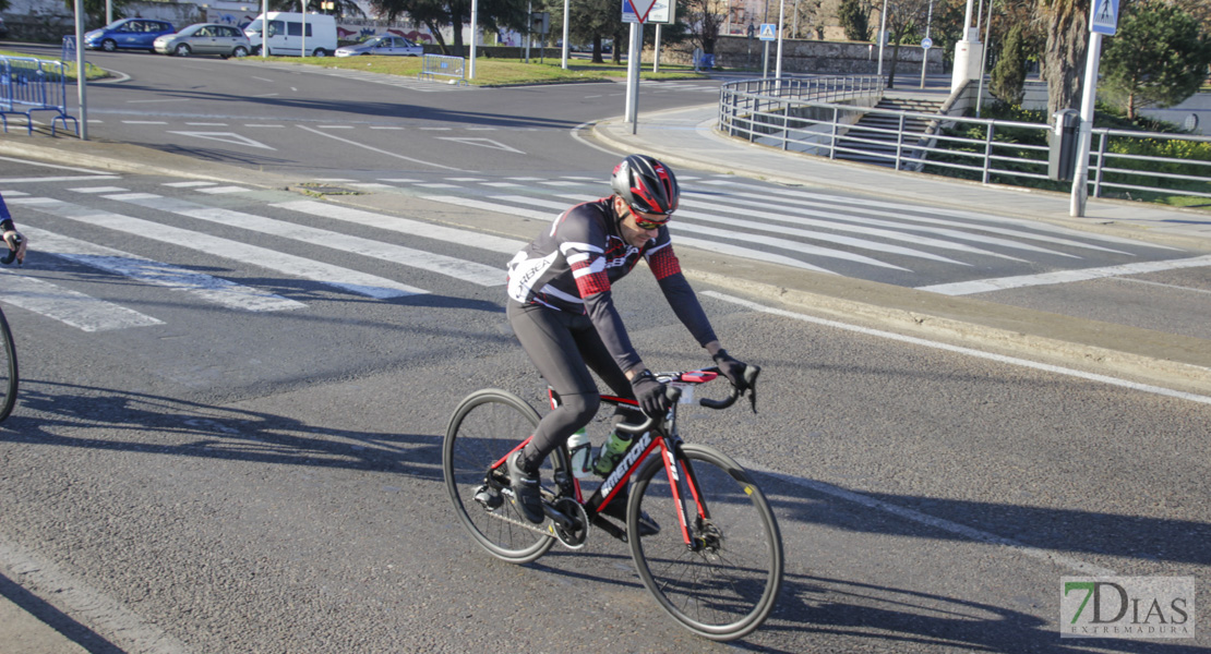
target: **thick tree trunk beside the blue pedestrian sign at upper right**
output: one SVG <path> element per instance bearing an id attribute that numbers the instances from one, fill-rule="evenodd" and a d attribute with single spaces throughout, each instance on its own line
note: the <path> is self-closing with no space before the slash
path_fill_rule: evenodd
<path id="1" fill-rule="evenodd" d="M 1089 51 L 1089 0 L 1039 0 L 1046 25 L 1043 79 L 1048 82 L 1049 116 L 1079 104 Z"/>

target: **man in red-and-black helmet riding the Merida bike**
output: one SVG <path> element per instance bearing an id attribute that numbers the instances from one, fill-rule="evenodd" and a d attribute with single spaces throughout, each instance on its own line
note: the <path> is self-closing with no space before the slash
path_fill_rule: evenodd
<path id="1" fill-rule="evenodd" d="M 647 260 L 677 318 L 728 380 L 744 388 L 745 364 L 719 345 L 668 239 L 666 224 L 681 195 L 677 178 L 659 161 L 631 155 L 614 168 L 610 186 L 614 195 L 563 212 L 509 262 L 509 323 L 561 400 L 507 462 L 512 502 L 535 523 L 544 519 L 539 467 L 601 406 L 590 369 L 615 395 L 637 399 L 644 413 L 659 417 L 668 410 L 664 384 L 631 346 L 610 291 L 639 257 Z M 637 422 L 622 412 L 614 419 Z M 625 519 L 626 503 L 620 499 L 612 500 L 606 513 Z M 647 527 L 659 528 L 654 522 Z"/>

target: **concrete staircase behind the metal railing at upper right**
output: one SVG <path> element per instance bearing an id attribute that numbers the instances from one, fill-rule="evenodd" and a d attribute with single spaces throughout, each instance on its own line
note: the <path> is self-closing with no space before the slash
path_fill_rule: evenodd
<path id="1" fill-rule="evenodd" d="M 889 111 L 911 111 L 914 114 L 937 114 L 942 109 L 945 96 L 885 93 L 876 109 Z M 925 118 L 906 117 L 903 123 L 903 144 L 916 145 L 925 134 L 929 123 Z M 889 114 L 866 114 L 862 120 L 850 127 L 837 139 L 838 147 L 850 147 L 861 152 L 837 152 L 836 158 L 860 163 L 873 163 L 886 168 L 896 164 L 896 140 L 900 129 L 900 117 Z"/>

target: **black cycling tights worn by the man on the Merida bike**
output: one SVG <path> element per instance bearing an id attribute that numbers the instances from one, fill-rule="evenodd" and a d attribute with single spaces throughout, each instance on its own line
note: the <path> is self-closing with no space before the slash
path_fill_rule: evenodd
<path id="1" fill-rule="evenodd" d="M 615 395 L 633 399 L 635 393 L 587 316 L 513 300 L 506 313 L 526 354 L 559 394 L 559 406 L 538 423 L 534 439 L 522 451 L 522 469 L 534 473 L 547 455 L 597 415 L 601 394 L 590 369 Z"/>

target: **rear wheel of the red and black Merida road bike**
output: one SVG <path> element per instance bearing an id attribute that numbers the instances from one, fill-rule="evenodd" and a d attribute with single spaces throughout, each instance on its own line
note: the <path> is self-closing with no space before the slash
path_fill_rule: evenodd
<path id="1" fill-rule="evenodd" d="M 538 421 L 534 407 L 517 395 L 477 390 L 454 410 L 442 445 L 442 471 L 454 511 L 476 543 L 510 563 L 534 561 L 555 545 L 555 538 L 529 528 L 526 516 L 499 492 L 509 485 L 504 465 L 492 473 L 498 485 L 488 491 L 488 505 L 475 496 L 489 467 L 534 433 Z M 551 479 L 549 462 L 544 462 L 543 479 Z"/>

